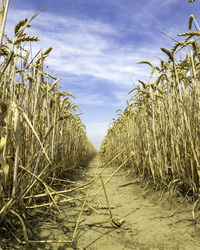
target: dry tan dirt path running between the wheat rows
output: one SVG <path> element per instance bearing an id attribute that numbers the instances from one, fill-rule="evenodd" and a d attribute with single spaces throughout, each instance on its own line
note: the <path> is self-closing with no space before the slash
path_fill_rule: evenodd
<path id="1" fill-rule="evenodd" d="M 117 168 L 117 167 L 116 167 Z M 116 168 L 108 167 L 102 174 L 104 182 Z M 102 170 L 98 157 L 91 161 L 83 180 L 84 184 L 92 180 Z M 128 184 L 128 185 L 127 185 Z M 102 187 L 101 179 L 93 186 L 91 193 Z M 169 217 L 176 206 L 159 201 L 159 193 L 144 192 L 141 183 L 128 179 L 121 171 L 106 184 L 106 191 L 112 209 L 113 217 L 118 221 L 125 219 L 119 228 L 108 221 L 103 221 L 102 215 L 109 218 L 109 211 L 92 205 L 101 215 L 92 209 L 84 209 L 81 223 L 77 229 L 77 243 L 82 249 L 91 250 L 122 250 L 122 249 L 200 249 L 200 223 L 194 224 L 191 207 L 182 206 L 173 216 Z M 107 205 L 104 191 L 88 197 L 89 204 Z M 74 208 L 62 206 L 63 214 L 55 222 L 47 221 L 40 227 L 43 239 L 69 239 L 68 234 L 74 230 L 74 222 L 78 218 L 82 203 L 74 203 Z M 40 249 L 38 247 L 38 249 Z M 42 249 L 42 247 L 41 247 Z M 44 247 L 43 247 L 44 249 Z M 67 244 L 49 244 L 45 249 L 73 249 Z"/>

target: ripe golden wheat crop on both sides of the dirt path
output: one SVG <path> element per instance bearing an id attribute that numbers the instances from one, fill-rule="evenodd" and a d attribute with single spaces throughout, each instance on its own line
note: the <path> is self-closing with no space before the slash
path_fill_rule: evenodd
<path id="1" fill-rule="evenodd" d="M 97 151 L 87 138 L 73 94 L 60 90 L 61 78 L 54 77 L 45 64 L 52 48 L 33 55 L 32 46 L 40 39 L 29 36 L 28 30 L 42 10 L 20 21 L 11 40 L 4 32 L 8 8 L 9 1 L 4 6 L 1 0 L 0 234 L 12 235 L 29 249 L 25 221 L 30 211 L 51 212 L 54 205 L 59 213 L 57 201 L 69 192 L 70 178 L 86 169 Z M 166 60 L 160 59 L 160 65 L 138 62 L 151 68 L 149 81 L 139 80 L 130 90 L 126 108 L 117 110 L 99 155 L 104 169 L 114 162 L 133 179 L 139 177 L 161 192 L 190 196 L 197 206 L 200 28 L 193 15 L 188 29 L 178 34 L 181 41 L 170 50 L 161 48 Z M 124 220 L 114 220 L 101 173 L 92 185 L 97 179 L 102 181 L 112 225 L 118 228 Z M 68 202 L 77 199 L 67 194 L 65 198 Z M 83 207 L 70 242 L 87 198 L 88 193 L 85 200 L 79 198 Z M 23 241 L 13 233 L 19 224 Z"/>

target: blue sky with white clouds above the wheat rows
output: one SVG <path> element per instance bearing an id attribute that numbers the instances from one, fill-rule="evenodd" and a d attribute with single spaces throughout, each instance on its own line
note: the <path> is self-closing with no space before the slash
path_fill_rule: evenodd
<path id="1" fill-rule="evenodd" d="M 160 48 L 172 48 L 160 31 L 181 40 L 176 35 L 188 31 L 191 14 L 200 23 L 200 0 L 10 0 L 6 33 L 12 37 L 19 21 L 46 4 L 31 23 L 30 35 L 40 37 L 33 53 L 53 48 L 49 71 L 75 96 L 97 149 L 128 92 L 138 80 L 149 80 L 149 66 L 137 62 L 159 65 L 166 59 Z"/>

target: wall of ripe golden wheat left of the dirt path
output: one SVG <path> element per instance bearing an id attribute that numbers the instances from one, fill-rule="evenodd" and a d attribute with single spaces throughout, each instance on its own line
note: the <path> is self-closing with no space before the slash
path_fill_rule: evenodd
<path id="1" fill-rule="evenodd" d="M 30 207 L 37 212 L 53 203 L 59 211 L 56 187 L 69 189 L 64 180 L 96 153 L 73 95 L 60 91 L 60 79 L 45 67 L 52 48 L 31 56 L 39 38 L 25 31 L 37 15 L 16 25 L 13 41 L 2 32 L 0 50 L 0 234 L 13 237 L 19 221 L 27 248 Z"/>

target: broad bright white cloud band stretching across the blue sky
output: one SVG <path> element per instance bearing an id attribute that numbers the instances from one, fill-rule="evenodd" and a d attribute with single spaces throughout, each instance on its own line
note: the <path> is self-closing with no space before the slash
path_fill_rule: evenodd
<path id="1" fill-rule="evenodd" d="M 15 10 L 8 18 L 8 28 L 31 12 Z M 13 30 L 13 28 L 12 28 Z M 129 78 L 141 79 L 145 67 L 137 66 L 140 60 L 151 60 L 159 48 L 124 47 L 115 43 L 119 37 L 116 27 L 100 21 L 80 20 L 40 14 L 30 29 L 32 35 L 41 37 L 35 43 L 33 54 L 41 47 L 53 47 L 46 63 L 50 69 L 74 75 L 90 75 L 116 85 L 131 85 Z M 126 45 L 125 45 L 126 46 Z"/>

